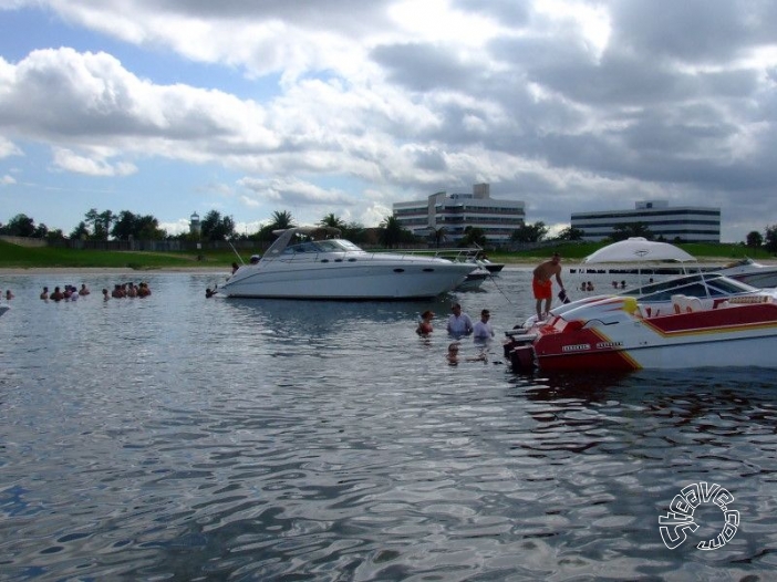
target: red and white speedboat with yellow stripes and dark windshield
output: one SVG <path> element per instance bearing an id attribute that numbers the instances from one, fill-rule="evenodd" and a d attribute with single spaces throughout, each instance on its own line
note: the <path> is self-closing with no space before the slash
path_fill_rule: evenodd
<path id="1" fill-rule="evenodd" d="M 686 274 L 559 305 L 507 335 L 516 371 L 777 367 L 777 291 Z"/>

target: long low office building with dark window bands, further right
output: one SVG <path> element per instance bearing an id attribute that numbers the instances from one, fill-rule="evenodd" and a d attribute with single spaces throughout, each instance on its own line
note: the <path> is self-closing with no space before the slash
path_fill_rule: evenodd
<path id="1" fill-rule="evenodd" d="M 583 240 L 611 237 L 614 227 L 644 224 L 655 238 L 683 242 L 721 242 L 721 209 L 701 206 L 670 207 L 666 200 L 639 201 L 633 210 L 572 214 L 571 227 Z"/>

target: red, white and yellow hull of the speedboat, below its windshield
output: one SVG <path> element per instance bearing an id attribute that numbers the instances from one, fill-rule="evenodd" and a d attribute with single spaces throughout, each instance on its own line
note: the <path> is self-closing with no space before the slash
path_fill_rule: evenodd
<path id="1" fill-rule="evenodd" d="M 774 297 L 706 306 L 695 301 L 653 318 L 645 316 L 633 298 L 583 303 L 535 325 L 514 340 L 506 354 L 514 367 L 526 368 L 530 349 L 531 364 L 543 371 L 777 367 Z"/>

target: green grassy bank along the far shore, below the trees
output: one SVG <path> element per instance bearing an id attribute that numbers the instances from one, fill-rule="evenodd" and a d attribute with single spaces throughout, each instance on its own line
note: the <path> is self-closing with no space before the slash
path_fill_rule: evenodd
<path id="1" fill-rule="evenodd" d="M 548 258 L 553 252 L 560 252 L 564 261 L 579 262 L 595 250 L 603 247 L 601 242 L 564 243 L 543 249 L 520 252 L 490 252 L 489 258 L 496 262 L 533 263 Z M 700 261 L 727 262 L 743 257 L 753 259 L 774 259 L 763 250 L 754 250 L 742 245 L 678 245 Z M 244 253 L 248 262 L 250 253 Z M 0 268 L 118 268 L 138 271 L 154 269 L 185 268 L 224 268 L 237 257 L 231 251 L 201 251 L 198 256 L 191 252 L 130 252 L 75 250 L 53 247 L 28 248 L 0 241 Z"/>

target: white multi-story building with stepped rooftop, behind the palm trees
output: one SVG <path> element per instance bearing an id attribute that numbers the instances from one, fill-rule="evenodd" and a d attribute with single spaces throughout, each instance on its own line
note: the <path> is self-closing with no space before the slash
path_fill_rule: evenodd
<path id="1" fill-rule="evenodd" d="M 488 184 L 476 184 L 472 194 L 439 191 L 425 200 L 395 202 L 393 211 L 400 224 L 414 235 L 431 236 L 441 228 L 445 239 L 455 242 L 467 227 L 479 228 L 493 245 L 504 245 L 526 221 L 525 204 L 496 200 Z"/>

